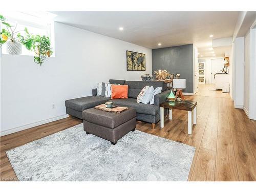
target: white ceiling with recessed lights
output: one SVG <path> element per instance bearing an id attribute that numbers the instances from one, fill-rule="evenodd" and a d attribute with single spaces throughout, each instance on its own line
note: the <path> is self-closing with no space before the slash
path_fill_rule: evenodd
<path id="1" fill-rule="evenodd" d="M 55 20 L 150 49 L 195 44 L 211 48 L 212 38 L 231 37 L 238 11 L 55 11 Z M 123 27 L 123 31 L 119 31 Z M 161 46 L 158 46 L 158 43 Z M 208 51 L 210 52 L 210 51 Z M 206 56 L 206 55 L 204 55 Z M 212 56 L 212 53 L 209 53 Z"/>

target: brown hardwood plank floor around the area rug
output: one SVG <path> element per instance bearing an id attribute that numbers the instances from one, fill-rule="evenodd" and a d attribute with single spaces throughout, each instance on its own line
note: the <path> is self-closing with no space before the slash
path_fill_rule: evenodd
<path id="1" fill-rule="evenodd" d="M 173 120 L 165 118 L 152 129 L 151 123 L 137 122 L 137 130 L 196 147 L 189 181 L 256 181 L 256 121 L 241 109 L 234 109 L 229 94 L 208 91 L 211 85 L 200 85 L 197 100 L 197 125 L 187 134 L 187 112 L 173 110 Z M 81 123 L 66 118 L 0 138 L 0 178 L 17 180 L 6 155 L 11 148 L 54 134 Z"/>

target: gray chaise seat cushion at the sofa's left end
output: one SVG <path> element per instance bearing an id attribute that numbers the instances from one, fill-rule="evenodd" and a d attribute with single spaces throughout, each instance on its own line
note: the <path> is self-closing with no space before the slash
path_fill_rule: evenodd
<path id="1" fill-rule="evenodd" d="M 101 96 L 88 96 L 66 100 L 65 105 L 67 108 L 82 112 L 83 110 L 94 108 L 96 105 L 105 103 L 108 100 L 110 100 L 110 98 L 104 98 Z"/>

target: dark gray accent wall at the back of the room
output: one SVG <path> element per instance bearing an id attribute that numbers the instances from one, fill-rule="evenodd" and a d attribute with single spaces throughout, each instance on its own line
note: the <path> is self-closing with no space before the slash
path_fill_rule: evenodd
<path id="1" fill-rule="evenodd" d="M 186 79 L 186 89 L 183 92 L 193 93 L 193 44 L 152 50 L 152 74 L 158 69 L 168 73 L 179 73 L 181 79 Z M 154 75 L 155 78 L 155 75 Z"/>

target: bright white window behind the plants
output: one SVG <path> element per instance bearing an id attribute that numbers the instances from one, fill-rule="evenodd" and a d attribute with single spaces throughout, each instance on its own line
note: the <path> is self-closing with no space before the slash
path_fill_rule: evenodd
<path id="1" fill-rule="evenodd" d="M 34 35 L 46 35 L 50 38 L 51 47 L 53 50 L 52 56 L 54 56 L 54 21 L 53 18 L 55 17 L 54 14 L 48 12 L 17 12 L 8 11 L 7 13 L 2 13 L 8 21 L 7 23 L 11 24 L 12 26 L 16 26 L 16 32 L 25 34 L 24 29 L 27 28 L 30 34 Z M 5 28 L 4 25 L 1 25 L 1 28 Z M 17 34 L 17 33 L 16 33 Z M 2 53 L 7 54 L 6 51 L 6 44 L 2 46 Z M 29 51 L 26 49 L 25 46 L 22 46 L 22 55 L 34 55 L 33 50 Z"/>

